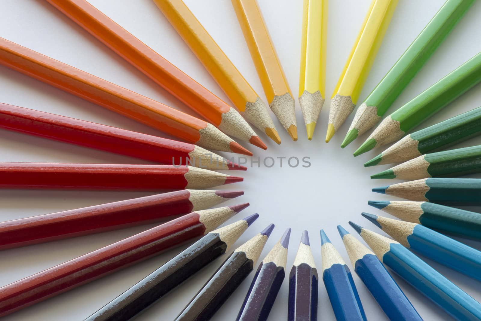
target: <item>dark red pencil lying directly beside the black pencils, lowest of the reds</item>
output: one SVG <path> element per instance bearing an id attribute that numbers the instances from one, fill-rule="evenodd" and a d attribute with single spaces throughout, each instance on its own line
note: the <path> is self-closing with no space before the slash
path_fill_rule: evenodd
<path id="1" fill-rule="evenodd" d="M 205 235 L 247 206 L 192 212 L 5 285 L 0 288 L 0 317 Z"/>

